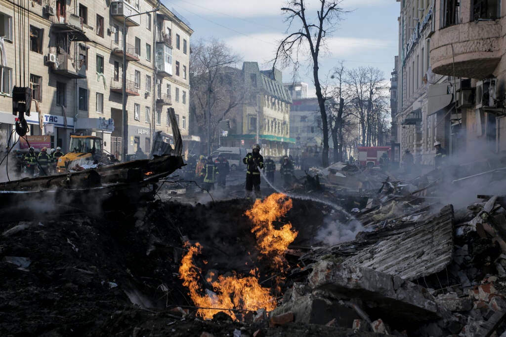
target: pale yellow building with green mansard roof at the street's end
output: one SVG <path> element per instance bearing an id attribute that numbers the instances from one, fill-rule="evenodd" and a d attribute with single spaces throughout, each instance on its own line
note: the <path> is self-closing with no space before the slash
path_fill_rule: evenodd
<path id="1" fill-rule="evenodd" d="M 289 134 L 292 101 L 283 86 L 281 72 L 261 71 L 257 62 L 244 62 L 237 75 L 244 80 L 244 89 L 252 93 L 252 99 L 231 115 L 232 127 L 222 144 L 251 148 L 259 141 L 264 156 L 286 154 L 295 139 Z"/>

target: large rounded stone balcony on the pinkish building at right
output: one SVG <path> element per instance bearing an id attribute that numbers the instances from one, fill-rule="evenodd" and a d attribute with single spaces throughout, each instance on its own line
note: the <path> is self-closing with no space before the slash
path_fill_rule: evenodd
<path id="1" fill-rule="evenodd" d="M 458 23 L 436 30 L 431 37 L 436 74 L 483 79 L 494 72 L 502 53 L 499 21 Z"/>

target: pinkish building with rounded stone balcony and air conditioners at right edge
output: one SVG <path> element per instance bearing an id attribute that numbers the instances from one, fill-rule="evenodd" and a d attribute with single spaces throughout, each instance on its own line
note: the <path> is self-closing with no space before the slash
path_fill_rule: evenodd
<path id="1" fill-rule="evenodd" d="M 453 76 L 449 148 L 478 159 L 506 150 L 506 7 L 502 1 L 436 0 L 430 61 Z"/>

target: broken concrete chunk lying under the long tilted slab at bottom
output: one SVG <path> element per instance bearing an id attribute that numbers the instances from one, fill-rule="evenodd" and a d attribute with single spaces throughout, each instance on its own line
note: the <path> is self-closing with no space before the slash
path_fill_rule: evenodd
<path id="1" fill-rule="evenodd" d="M 360 318 L 355 310 L 340 303 L 340 301 L 330 300 L 327 297 L 319 297 L 314 294 L 308 294 L 298 297 L 295 301 L 283 303 L 271 312 L 272 315 L 280 315 L 292 312 L 295 315 L 295 321 L 305 324 L 325 325 L 335 318 L 336 326 L 349 327 L 353 320 Z"/>

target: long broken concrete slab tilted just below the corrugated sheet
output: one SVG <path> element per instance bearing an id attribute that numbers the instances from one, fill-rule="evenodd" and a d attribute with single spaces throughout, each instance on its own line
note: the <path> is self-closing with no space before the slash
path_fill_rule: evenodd
<path id="1" fill-rule="evenodd" d="M 434 297 L 426 288 L 383 272 L 320 261 L 313 265 L 308 281 L 315 290 L 326 290 L 336 298 L 372 301 L 399 318 L 423 321 L 439 317 Z"/>

